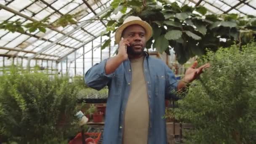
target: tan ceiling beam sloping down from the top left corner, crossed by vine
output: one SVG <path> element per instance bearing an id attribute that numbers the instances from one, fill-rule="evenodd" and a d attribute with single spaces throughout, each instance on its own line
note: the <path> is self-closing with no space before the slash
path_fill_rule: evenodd
<path id="1" fill-rule="evenodd" d="M 3 9 L 6 10 L 6 11 L 9 11 L 9 12 L 11 12 L 11 13 L 14 13 L 14 14 L 16 14 L 16 15 L 18 15 L 18 16 L 21 16 L 21 17 L 23 17 L 23 18 L 25 18 L 25 19 L 28 19 L 28 20 L 30 20 L 30 21 L 37 21 L 37 20 L 35 20 L 35 19 L 33 19 L 33 18 L 31 18 L 31 17 L 29 17 L 29 16 L 23 14 L 23 13 L 20 13 L 19 11 L 15 11 L 15 10 L 13 10 L 13 9 L 11 9 L 11 8 L 8 8 L 8 7 L 5 6 L 5 5 L 0 4 L 0 8 L 3 8 Z M 64 32 L 61 32 L 61 31 L 58 30 L 58 29 L 53 29 L 53 28 L 51 28 L 51 27 L 50 27 L 49 29 L 54 30 L 54 31 L 56 31 L 56 32 L 59 32 L 59 33 L 61 33 L 62 35 L 66 35 Z M 77 41 L 79 41 L 80 43 L 83 43 L 83 41 L 78 40 L 78 39 L 75 38 L 75 37 L 72 37 L 72 36 L 69 36 L 69 35 L 68 35 L 68 37 L 70 37 L 70 38 L 72 38 L 72 39 L 74 39 L 74 40 L 77 40 Z"/>

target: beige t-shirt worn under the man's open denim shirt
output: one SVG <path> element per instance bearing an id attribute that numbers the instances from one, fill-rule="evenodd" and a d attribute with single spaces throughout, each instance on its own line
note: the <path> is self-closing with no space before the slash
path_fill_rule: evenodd
<path id="1" fill-rule="evenodd" d="M 143 71 L 144 56 L 131 60 L 131 91 L 125 109 L 123 144 L 147 144 L 149 102 Z"/>

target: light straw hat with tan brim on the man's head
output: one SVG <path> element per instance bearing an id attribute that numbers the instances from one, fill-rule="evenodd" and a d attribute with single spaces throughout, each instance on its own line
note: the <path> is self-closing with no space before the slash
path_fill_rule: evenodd
<path id="1" fill-rule="evenodd" d="M 133 24 L 139 24 L 141 25 L 141 27 L 144 27 L 146 34 L 146 41 L 148 41 L 150 39 L 150 37 L 152 36 L 152 27 L 146 22 L 146 21 L 142 21 L 141 18 L 139 18 L 138 16 L 128 16 L 124 21 L 123 24 L 117 29 L 117 31 L 115 32 L 115 42 L 119 43 L 122 37 L 122 32 L 123 30 Z"/>

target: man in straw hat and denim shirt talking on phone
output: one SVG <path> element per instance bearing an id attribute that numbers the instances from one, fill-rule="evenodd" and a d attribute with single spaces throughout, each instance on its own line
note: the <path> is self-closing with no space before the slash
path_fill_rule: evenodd
<path id="1" fill-rule="evenodd" d="M 176 81 L 163 61 L 144 51 L 151 35 L 147 22 L 129 16 L 115 33 L 118 54 L 85 74 L 89 87 L 109 88 L 103 144 L 166 144 L 165 96 L 181 90 L 209 67 L 196 68 L 195 62 Z"/>

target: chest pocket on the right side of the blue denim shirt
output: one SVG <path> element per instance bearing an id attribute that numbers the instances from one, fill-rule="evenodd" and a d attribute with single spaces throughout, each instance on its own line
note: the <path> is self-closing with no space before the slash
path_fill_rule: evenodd
<path id="1" fill-rule="evenodd" d="M 165 94 L 165 76 L 155 75 L 155 94 L 156 96 L 164 97 Z"/>

